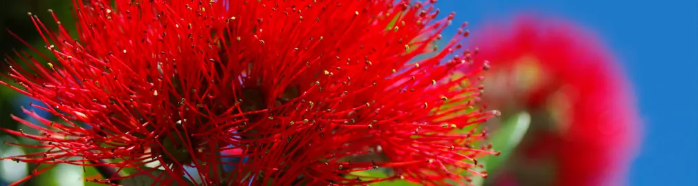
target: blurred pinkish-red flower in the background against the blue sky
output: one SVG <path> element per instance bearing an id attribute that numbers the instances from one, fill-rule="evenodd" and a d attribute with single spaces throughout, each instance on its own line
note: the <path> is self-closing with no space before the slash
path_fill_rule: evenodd
<path id="1" fill-rule="evenodd" d="M 623 185 L 638 117 L 614 59 L 578 26 L 519 17 L 511 27 L 487 27 L 473 44 L 480 47 L 478 60 L 496 69 L 486 75 L 485 103 L 534 116 L 519 156 L 495 182 L 510 185 L 505 174 L 518 171 L 515 182 L 522 185 Z M 535 171 L 551 159 L 554 173 Z"/>

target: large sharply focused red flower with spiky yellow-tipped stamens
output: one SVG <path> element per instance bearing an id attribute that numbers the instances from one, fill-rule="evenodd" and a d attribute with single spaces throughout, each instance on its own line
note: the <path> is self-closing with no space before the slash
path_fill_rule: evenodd
<path id="1" fill-rule="evenodd" d="M 17 53 L 28 68 L 8 76 L 62 122 L 15 117 L 24 130 L 3 130 L 40 144 L 13 144 L 47 150 L 4 159 L 112 170 L 99 183 L 462 185 L 496 153 L 451 131 L 495 112 L 473 109 L 477 82 L 453 88 L 482 69 L 449 78 L 468 32 L 434 47 L 454 16 L 435 2 L 73 1 L 79 37 L 33 17 L 57 60 Z M 355 174 L 378 168 L 394 174 Z"/>

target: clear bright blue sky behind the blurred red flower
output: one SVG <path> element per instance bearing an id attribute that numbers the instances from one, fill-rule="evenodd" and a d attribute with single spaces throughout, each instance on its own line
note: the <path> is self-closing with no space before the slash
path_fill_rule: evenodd
<path id="1" fill-rule="evenodd" d="M 644 117 L 630 185 L 698 185 L 698 1 L 441 0 L 437 6 L 456 11 L 454 22 L 470 22 L 470 30 L 486 18 L 535 10 L 595 31 L 620 58 Z"/>

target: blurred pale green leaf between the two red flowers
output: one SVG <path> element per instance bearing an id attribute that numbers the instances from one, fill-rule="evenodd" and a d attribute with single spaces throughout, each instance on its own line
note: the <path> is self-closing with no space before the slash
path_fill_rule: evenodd
<path id="1" fill-rule="evenodd" d="M 523 136 L 526 135 L 529 126 L 530 115 L 528 112 L 520 112 L 508 119 L 501 128 L 491 135 L 489 142 L 492 144 L 492 148 L 501 151 L 501 154 L 499 156 L 478 158 L 478 162 L 484 164 L 485 171 L 489 174 L 496 172 L 501 166 L 501 163 L 505 162 L 505 160 L 512 155 L 512 151 L 514 151 L 519 145 L 519 142 L 523 140 Z M 484 183 L 483 178 L 473 178 L 473 185 L 482 185 L 482 183 Z"/>

